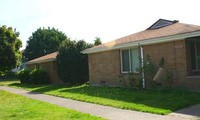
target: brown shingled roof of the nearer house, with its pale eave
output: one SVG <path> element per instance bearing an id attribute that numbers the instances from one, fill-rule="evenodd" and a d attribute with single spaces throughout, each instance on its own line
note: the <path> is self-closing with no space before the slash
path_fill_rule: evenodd
<path id="1" fill-rule="evenodd" d="M 200 26 L 179 23 L 174 21 L 173 24 L 161 24 L 162 27 L 155 26 L 156 23 L 162 22 L 164 19 L 159 19 L 148 29 L 137 32 L 135 34 L 125 36 L 111 42 L 107 42 L 82 51 L 82 53 L 96 53 L 138 45 L 155 44 L 161 42 L 169 42 L 172 40 L 180 40 L 187 37 L 200 36 Z M 167 21 L 167 20 L 165 20 Z M 160 25 L 160 24 L 158 24 Z"/>

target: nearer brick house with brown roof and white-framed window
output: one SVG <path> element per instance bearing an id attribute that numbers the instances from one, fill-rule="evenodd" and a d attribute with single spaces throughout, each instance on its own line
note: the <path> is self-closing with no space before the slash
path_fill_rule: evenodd
<path id="1" fill-rule="evenodd" d="M 142 58 L 149 55 L 157 65 L 164 57 L 166 68 L 173 72 L 173 86 L 200 88 L 200 26 L 159 19 L 144 31 L 82 52 L 88 54 L 94 85 L 118 86 L 119 76 L 138 75 Z M 148 87 L 147 83 L 146 79 Z"/>

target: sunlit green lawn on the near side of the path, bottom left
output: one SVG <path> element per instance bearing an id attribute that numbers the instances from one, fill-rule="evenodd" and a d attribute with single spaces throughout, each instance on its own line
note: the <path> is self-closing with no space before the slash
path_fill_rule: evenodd
<path id="1" fill-rule="evenodd" d="M 101 118 L 65 109 L 0 90 L 1 120 L 101 120 Z"/>

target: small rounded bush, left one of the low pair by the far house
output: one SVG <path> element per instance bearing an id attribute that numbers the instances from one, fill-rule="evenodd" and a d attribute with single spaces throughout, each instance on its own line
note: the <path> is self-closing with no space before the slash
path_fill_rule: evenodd
<path id="1" fill-rule="evenodd" d="M 17 73 L 17 77 L 21 83 L 31 83 L 30 82 L 30 70 L 22 69 Z"/>

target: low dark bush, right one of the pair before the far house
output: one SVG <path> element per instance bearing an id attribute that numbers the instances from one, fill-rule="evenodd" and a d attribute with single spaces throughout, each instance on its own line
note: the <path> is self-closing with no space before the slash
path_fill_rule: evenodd
<path id="1" fill-rule="evenodd" d="M 33 84 L 47 84 L 49 83 L 49 76 L 47 72 L 42 69 L 33 69 L 30 72 L 30 81 Z"/>

